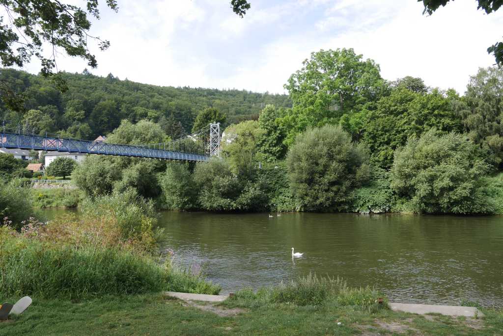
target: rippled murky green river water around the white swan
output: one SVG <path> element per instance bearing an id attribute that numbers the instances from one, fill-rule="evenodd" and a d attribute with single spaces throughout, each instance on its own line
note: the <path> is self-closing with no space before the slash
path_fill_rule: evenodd
<path id="1" fill-rule="evenodd" d="M 160 248 L 222 293 L 314 272 L 396 302 L 503 306 L 503 217 L 272 215 L 163 212 Z"/>

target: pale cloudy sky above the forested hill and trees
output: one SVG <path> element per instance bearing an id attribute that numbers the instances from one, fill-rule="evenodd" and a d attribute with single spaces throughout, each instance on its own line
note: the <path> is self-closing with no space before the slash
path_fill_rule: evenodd
<path id="1" fill-rule="evenodd" d="M 375 60 L 385 79 L 411 75 L 463 94 L 470 75 L 494 64 L 487 47 L 503 40 L 503 10 L 486 15 L 474 0 L 451 2 L 432 16 L 415 0 L 249 0 L 243 19 L 229 2 L 118 0 L 118 13 L 102 7 L 91 34 L 111 47 L 90 43 L 98 60 L 90 70 L 159 86 L 286 93 L 283 85 L 311 52 L 354 48 Z M 87 67 L 64 53 L 57 65 Z M 37 73 L 40 64 L 24 69 Z"/>

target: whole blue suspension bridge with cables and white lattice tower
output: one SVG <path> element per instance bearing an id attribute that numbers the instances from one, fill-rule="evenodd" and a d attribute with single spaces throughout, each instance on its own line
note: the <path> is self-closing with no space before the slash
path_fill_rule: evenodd
<path id="1" fill-rule="evenodd" d="M 20 128 L 17 132 L 8 132 L 4 126 L 0 133 L 0 147 L 183 161 L 207 161 L 211 156 L 218 156 L 220 151 L 219 123 L 210 124 L 196 133 L 171 142 L 141 145 L 112 144 L 25 133 L 21 132 Z"/>

